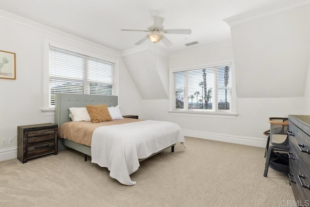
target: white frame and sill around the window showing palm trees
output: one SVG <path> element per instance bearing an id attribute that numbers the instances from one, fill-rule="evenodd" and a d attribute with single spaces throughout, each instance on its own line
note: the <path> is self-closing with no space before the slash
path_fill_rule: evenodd
<path id="1" fill-rule="evenodd" d="M 211 68 L 211 67 L 218 67 L 223 65 L 230 65 L 231 70 L 231 111 L 203 111 L 203 110 L 184 110 L 184 109 L 173 109 L 173 105 L 175 102 L 174 94 L 173 94 L 173 73 L 175 72 L 182 72 L 188 70 L 195 70 L 195 69 L 203 69 L 203 68 Z M 169 111 L 171 115 L 182 115 L 182 116 L 202 116 L 202 117 L 216 117 L 216 118 L 229 118 L 235 119 L 238 115 L 236 111 L 236 85 L 235 85 L 235 73 L 234 73 L 234 63 L 233 59 L 226 59 L 221 62 L 216 63 L 209 63 L 209 64 L 199 64 L 199 65 L 192 65 L 192 66 L 185 66 L 185 67 L 175 67 L 169 69 Z M 185 83 L 187 84 L 187 83 Z M 187 97 L 185 92 L 184 97 Z M 184 107 L 187 108 L 186 102 L 184 103 Z"/>

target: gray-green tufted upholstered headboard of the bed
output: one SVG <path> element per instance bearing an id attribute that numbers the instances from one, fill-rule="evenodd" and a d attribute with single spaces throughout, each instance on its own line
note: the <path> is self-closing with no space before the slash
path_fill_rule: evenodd
<path id="1" fill-rule="evenodd" d="M 107 104 L 117 106 L 117 96 L 88 95 L 88 94 L 56 94 L 55 101 L 55 124 L 61 126 L 64 122 L 69 122 L 70 107 L 85 107 L 85 105 Z"/>

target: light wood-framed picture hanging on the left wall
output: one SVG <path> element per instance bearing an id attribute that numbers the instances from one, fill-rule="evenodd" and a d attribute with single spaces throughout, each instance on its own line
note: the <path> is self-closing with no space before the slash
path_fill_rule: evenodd
<path id="1" fill-rule="evenodd" d="M 0 50 L 0 79 L 16 79 L 15 53 Z"/>

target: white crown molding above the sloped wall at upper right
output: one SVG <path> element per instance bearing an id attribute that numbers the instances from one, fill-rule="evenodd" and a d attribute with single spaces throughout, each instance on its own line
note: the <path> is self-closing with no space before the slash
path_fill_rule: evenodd
<path id="1" fill-rule="evenodd" d="M 277 3 L 273 3 L 259 9 L 254 9 L 239 15 L 225 18 L 223 19 L 223 21 L 225 21 L 230 27 L 232 27 L 254 19 L 278 14 L 280 12 L 296 9 L 309 4 L 310 0 L 281 0 Z"/>

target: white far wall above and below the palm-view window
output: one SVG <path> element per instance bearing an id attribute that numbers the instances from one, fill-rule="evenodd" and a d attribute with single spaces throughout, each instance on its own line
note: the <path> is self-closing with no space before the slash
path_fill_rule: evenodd
<path id="1" fill-rule="evenodd" d="M 232 45 L 172 56 L 169 63 L 170 67 L 177 68 L 215 63 L 230 58 L 233 58 Z M 266 137 L 263 131 L 270 128 L 269 117 L 302 114 L 303 101 L 303 97 L 237 98 L 238 116 L 235 119 L 226 119 L 175 115 L 168 112 L 168 99 L 143 100 L 141 118 L 174 122 L 180 125 L 187 136 L 264 147 Z"/>

